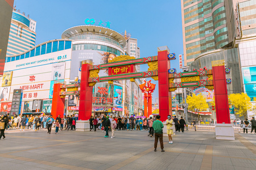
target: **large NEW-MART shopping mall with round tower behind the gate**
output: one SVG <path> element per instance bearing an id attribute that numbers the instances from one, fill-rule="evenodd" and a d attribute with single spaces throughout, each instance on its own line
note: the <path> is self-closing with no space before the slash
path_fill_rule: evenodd
<path id="1" fill-rule="evenodd" d="M 43 42 L 26 52 L 6 57 L 1 88 L 1 112 L 10 112 L 15 89 L 23 90 L 22 112 L 51 112 L 53 84 L 79 80 L 81 62 L 108 63 L 127 54 L 126 39 L 112 29 L 81 25 L 63 32 L 61 39 Z M 100 76 L 107 75 L 105 70 Z M 141 80 L 97 83 L 93 88 L 94 114 L 142 114 Z M 109 102 L 100 100 L 105 97 Z M 102 99 L 102 98 L 101 98 Z M 126 105 L 125 105 L 126 103 Z M 130 107 L 127 107 L 130 105 Z M 79 95 L 65 98 L 65 114 L 79 112 Z"/>

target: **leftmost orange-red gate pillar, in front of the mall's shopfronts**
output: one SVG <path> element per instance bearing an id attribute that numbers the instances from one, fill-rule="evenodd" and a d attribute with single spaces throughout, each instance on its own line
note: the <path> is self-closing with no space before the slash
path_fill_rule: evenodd
<path id="1" fill-rule="evenodd" d="M 63 117 L 65 98 L 60 97 L 61 83 L 56 83 L 53 85 L 53 95 L 52 95 L 52 118 L 56 118 L 58 115 Z"/>

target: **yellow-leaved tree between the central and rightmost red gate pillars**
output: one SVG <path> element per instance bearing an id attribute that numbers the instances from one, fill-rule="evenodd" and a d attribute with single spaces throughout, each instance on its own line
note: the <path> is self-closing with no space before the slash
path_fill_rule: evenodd
<path id="1" fill-rule="evenodd" d="M 201 93 L 199 95 L 192 94 L 192 96 L 187 97 L 188 109 L 191 109 L 192 111 L 195 111 L 195 112 L 197 110 L 198 120 L 199 120 L 199 112 L 209 108 L 209 105 L 207 104 L 206 100 L 207 99 L 205 98 L 205 96 L 203 96 Z"/>

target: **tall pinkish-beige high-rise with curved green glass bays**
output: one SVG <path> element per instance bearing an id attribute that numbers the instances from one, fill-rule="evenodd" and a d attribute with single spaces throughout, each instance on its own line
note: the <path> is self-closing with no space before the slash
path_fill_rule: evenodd
<path id="1" fill-rule="evenodd" d="M 233 40 L 233 34 L 228 33 L 232 27 L 227 22 L 230 9 L 226 4 L 224 0 L 181 0 L 184 66 L 201 53 Z"/>

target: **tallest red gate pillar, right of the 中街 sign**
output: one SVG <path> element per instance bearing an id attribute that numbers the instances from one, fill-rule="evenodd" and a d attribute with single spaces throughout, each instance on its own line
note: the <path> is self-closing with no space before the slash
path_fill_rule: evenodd
<path id="1" fill-rule="evenodd" d="M 172 99 L 169 92 L 168 70 L 170 61 L 167 50 L 158 52 L 158 89 L 159 89 L 159 115 L 160 121 L 166 121 L 167 116 L 172 116 Z"/>

